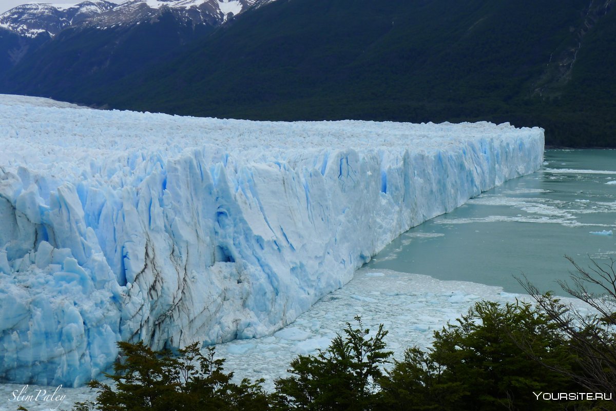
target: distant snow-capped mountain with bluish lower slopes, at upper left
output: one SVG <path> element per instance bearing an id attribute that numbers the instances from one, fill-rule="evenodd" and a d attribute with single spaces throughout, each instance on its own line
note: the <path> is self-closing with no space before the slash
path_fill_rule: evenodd
<path id="1" fill-rule="evenodd" d="M 6 85 L 87 92 L 179 55 L 187 44 L 265 0 L 88 0 L 24 4 L 0 15 L 0 78 Z M 23 60 L 23 61 L 22 61 Z M 20 63 L 17 67 L 17 63 Z M 45 92 L 49 94 L 50 91 Z M 54 91 L 51 91 L 54 94 Z"/>

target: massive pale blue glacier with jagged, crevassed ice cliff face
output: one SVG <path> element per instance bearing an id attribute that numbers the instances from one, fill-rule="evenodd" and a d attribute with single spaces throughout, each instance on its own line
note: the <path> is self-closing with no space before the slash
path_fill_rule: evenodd
<path id="1" fill-rule="evenodd" d="M 293 321 L 385 245 L 537 170 L 509 124 L 252 122 L 0 95 L 0 379 Z"/>

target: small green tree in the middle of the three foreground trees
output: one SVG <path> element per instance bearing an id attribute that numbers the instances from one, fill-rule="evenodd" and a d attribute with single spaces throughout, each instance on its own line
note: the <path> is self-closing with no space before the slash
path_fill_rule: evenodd
<path id="1" fill-rule="evenodd" d="M 387 331 L 383 324 L 373 337 L 364 329 L 346 323 L 346 337 L 336 335 L 328 349 L 316 356 L 299 356 L 291 362 L 291 377 L 275 381 L 279 409 L 291 410 L 373 410 L 378 407 L 381 366 L 392 351 L 384 351 Z"/>

